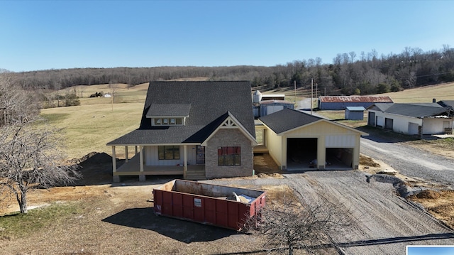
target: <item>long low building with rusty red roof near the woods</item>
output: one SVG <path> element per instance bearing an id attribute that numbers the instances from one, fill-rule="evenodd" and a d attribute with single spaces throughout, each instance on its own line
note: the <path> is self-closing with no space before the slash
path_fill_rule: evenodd
<path id="1" fill-rule="evenodd" d="M 320 110 L 345 110 L 345 107 L 370 107 L 375 103 L 392 103 L 384 96 L 326 96 L 319 97 Z"/>

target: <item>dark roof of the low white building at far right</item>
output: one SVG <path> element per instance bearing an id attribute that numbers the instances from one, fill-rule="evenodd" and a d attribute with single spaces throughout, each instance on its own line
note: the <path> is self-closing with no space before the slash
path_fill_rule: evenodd
<path id="1" fill-rule="evenodd" d="M 449 107 L 442 107 L 437 103 L 374 104 L 368 109 L 384 112 L 387 114 L 398 114 L 416 118 L 448 114 L 449 111 Z"/>

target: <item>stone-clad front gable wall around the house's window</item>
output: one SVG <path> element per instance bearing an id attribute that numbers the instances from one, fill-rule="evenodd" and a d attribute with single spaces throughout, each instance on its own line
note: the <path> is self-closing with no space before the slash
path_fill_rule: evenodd
<path id="1" fill-rule="evenodd" d="M 241 166 L 218 166 L 218 147 L 240 146 Z M 254 155 L 251 141 L 238 129 L 219 129 L 206 143 L 206 178 L 229 178 L 253 175 Z"/>

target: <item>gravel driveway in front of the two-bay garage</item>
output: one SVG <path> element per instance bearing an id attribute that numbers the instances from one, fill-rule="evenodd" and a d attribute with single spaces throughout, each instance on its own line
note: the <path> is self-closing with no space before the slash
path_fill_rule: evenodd
<path id="1" fill-rule="evenodd" d="M 206 180 L 220 185 L 288 185 L 301 200 L 341 203 L 357 219 L 348 235 L 336 237 L 345 254 L 405 254 L 406 245 L 447 245 L 454 233 L 416 205 L 397 195 L 396 179 L 372 178 L 358 170 L 284 174 L 283 179 Z M 383 182 L 383 180 L 387 180 Z"/>

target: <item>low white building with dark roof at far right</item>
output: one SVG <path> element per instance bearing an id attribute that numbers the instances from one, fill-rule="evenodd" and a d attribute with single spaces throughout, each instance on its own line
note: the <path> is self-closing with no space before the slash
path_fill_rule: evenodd
<path id="1" fill-rule="evenodd" d="M 439 103 L 374 104 L 367 124 L 409 135 L 445 134 L 453 129 L 453 107 Z"/>

